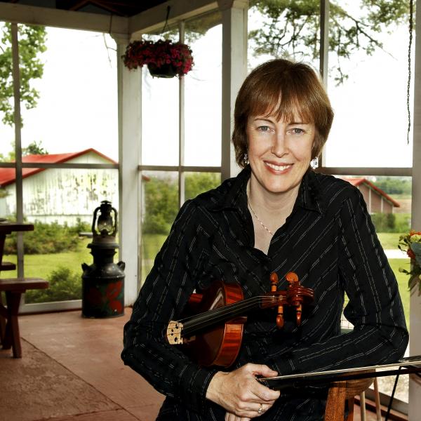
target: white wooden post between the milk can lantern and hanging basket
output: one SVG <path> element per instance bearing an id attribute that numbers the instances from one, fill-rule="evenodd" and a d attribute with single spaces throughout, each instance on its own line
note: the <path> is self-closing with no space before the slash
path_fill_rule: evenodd
<path id="1" fill-rule="evenodd" d="M 124 303 L 131 305 L 138 296 L 140 283 L 140 173 L 142 72 L 128 70 L 121 60 L 128 37 L 114 36 L 117 44 L 119 88 L 119 259 L 124 270 Z"/>

